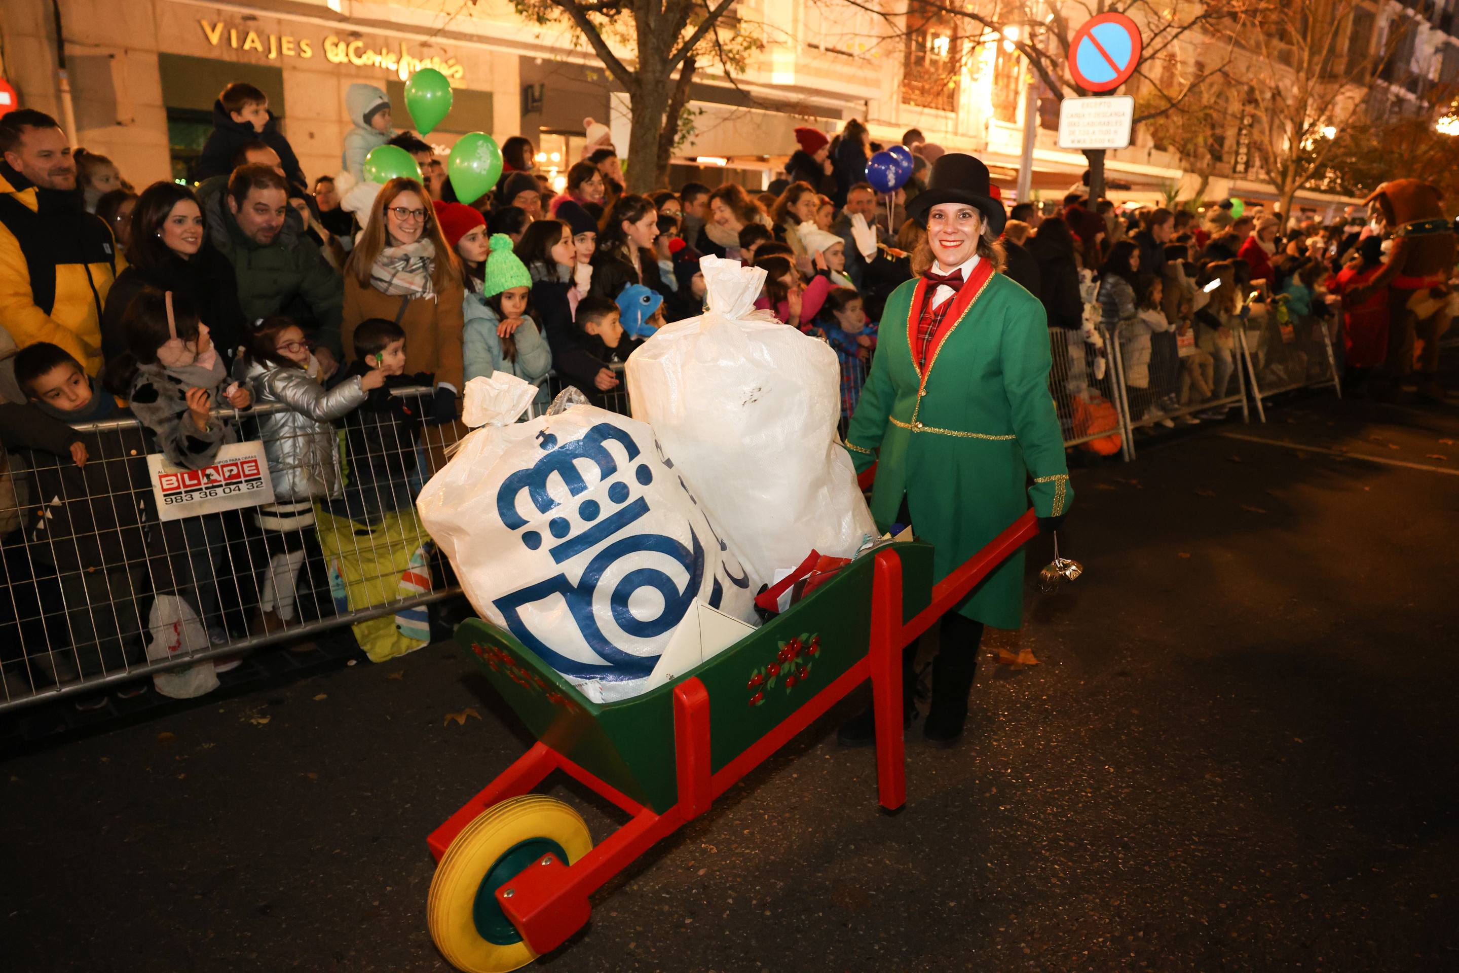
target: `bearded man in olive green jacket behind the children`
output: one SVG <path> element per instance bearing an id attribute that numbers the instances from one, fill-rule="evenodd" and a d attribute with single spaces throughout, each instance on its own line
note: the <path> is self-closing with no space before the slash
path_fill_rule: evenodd
<path id="1" fill-rule="evenodd" d="M 340 360 L 344 282 L 303 235 L 289 184 L 264 165 L 241 165 L 197 190 L 209 239 L 233 264 L 249 324 L 283 315 L 315 343 L 325 378 Z"/>

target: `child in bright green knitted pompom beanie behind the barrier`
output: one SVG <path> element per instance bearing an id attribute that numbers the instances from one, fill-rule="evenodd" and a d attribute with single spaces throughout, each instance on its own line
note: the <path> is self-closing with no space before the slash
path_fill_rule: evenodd
<path id="1" fill-rule="evenodd" d="M 531 317 L 533 276 L 512 252 L 512 238 L 487 241 L 480 293 L 467 292 L 463 305 L 461 354 L 465 381 L 509 372 L 537 382 L 552 371 L 552 350 Z M 546 391 L 538 395 L 546 400 Z"/>

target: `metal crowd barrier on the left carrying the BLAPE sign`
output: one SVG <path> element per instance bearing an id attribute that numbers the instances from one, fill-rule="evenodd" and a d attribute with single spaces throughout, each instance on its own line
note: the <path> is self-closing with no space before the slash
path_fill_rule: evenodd
<path id="1" fill-rule="evenodd" d="M 160 455 L 149 465 L 158 451 L 134 419 L 76 427 L 85 470 L 70 455 L 12 454 L 0 710 L 147 675 L 166 694 L 197 694 L 216 662 L 279 642 L 308 648 L 302 639 L 344 624 L 372 658 L 429 640 L 425 605 L 460 586 L 414 497 L 465 430 L 422 422 L 429 388 L 392 401 L 403 408 L 356 411 L 322 439 L 270 433 L 280 406 L 222 410 L 239 445 L 201 473 L 160 470 Z M 270 471 L 280 446 L 299 460 Z M 285 502 L 289 480 L 328 481 L 331 465 L 333 499 Z M 258 502 L 266 478 L 273 505 Z"/>

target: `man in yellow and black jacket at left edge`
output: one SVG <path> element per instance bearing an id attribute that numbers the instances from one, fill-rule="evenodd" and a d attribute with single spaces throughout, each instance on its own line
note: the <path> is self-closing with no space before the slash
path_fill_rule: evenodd
<path id="1" fill-rule="evenodd" d="M 0 327 L 16 347 L 58 344 L 101 372 L 101 311 L 117 276 L 111 230 L 76 193 L 76 162 L 55 120 L 0 117 Z"/>

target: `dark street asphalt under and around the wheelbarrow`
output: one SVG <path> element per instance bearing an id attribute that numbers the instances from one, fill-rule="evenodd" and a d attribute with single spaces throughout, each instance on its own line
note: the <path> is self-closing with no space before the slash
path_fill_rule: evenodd
<path id="1" fill-rule="evenodd" d="M 1459 404 L 1138 445 L 1074 471 L 1085 573 L 989 646 L 1040 665 L 985 655 L 957 748 L 913 731 L 902 813 L 848 700 L 540 966 L 1459 970 Z M 448 970 L 426 834 L 531 743 L 438 645 L 12 757 L 0 967 Z"/>

